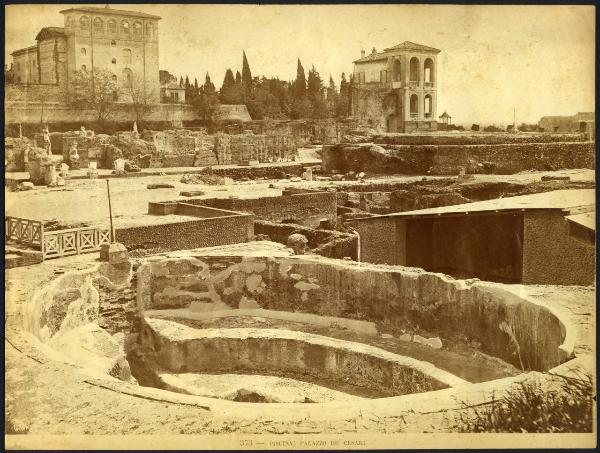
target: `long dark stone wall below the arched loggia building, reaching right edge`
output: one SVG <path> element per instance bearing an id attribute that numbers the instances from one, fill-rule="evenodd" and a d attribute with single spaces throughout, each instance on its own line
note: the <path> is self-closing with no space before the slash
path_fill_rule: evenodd
<path id="1" fill-rule="evenodd" d="M 326 171 L 376 174 L 514 174 L 525 170 L 594 168 L 594 142 L 497 145 L 339 144 L 323 147 Z"/>

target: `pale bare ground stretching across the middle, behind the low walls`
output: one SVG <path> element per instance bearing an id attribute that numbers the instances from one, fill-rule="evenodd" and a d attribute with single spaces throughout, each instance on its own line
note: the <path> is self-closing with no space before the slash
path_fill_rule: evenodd
<path id="1" fill-rule="evenodd" d="M 556 172 L 524 172 L 516 175 L 476 175 L 474 181 L 539 181 L 542 175 L 570 176 L 572 181 L 594 181 L 593 170 L 564 170 Z M 110 193 L 115 226 L 139 224 L 140 216 L 148 213 L 148 203 L 156 201 L 185 200 L 179 196 L 183 190 L 202 190 L 200 198 L 256 198 L 281 195 L 284 187 L 323 188 L 335 187 L 332 181 L 236 181 L 225 186 L 184 184 L 182 175 L 144 176 L 137 178 L 111 178 Z M 367 183 L 420 181 L 422 176 L 391 176 L 368 178 Z M 428 177 L 428 179 L 434 179 Z M 147 189 L 148 184 L 172 184 L 174 188 Z M 269 185 L 276 188 L 270 188 Z M 343 182 L 348 185 L 348 181 Z M 360 182 L 350 182 L 359 185 Z M 67 181 L 65 188 L 43 188 L 22 192 L 5 191 L 5 215 L 38 220 L 60 219 L 64 223 L 87 222 L 107 225 L 108 198 L 103 179 Z M 159 222 L 160 216 L 145 216 L 148 222 Z M 163 219 L 164 220 L 164 219 Z"/>

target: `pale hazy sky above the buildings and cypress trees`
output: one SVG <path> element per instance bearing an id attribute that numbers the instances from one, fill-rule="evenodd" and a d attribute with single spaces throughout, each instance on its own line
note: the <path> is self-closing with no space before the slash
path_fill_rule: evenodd
<path id="1" fill-rule="evenodd" d="M 103 6 L 103 5 L 101 5 Z M 322 78 L 352 72 L 361 49 L 413 41 L 438 56 L 438 111 L 455 123 L 537 122 L 595 108 L 592 6 L 111 5 L 161 16 L 160 69 L 193 81 L 208 71 L 296 74 L 296 58 Z M 5 46 L 33 45 L 44 26 L 63 26 L 63 5 L 7 6 Z"/>

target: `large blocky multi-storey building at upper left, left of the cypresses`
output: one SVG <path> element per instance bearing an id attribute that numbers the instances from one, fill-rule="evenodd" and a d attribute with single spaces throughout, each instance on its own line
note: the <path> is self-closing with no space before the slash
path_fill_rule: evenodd
<path id="1" fill-rule="evenodd" d="M 77 70 L 109 69 L 127 92 L 143 90 L 159 102 L 159 16 L 92 6 L 61 11 L 64 27 L 44 27 L 37 44 L 13 52 L 15 83 L 60 85 L 69 90 Z M 131 96 L 129 96 L 129 100 Z"/>

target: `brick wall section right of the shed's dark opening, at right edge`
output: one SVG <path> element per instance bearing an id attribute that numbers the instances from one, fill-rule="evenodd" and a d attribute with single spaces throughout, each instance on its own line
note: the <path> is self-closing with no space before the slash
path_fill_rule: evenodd
<path id="1" fill-rule="evenodd" d="M 523 225 L 523 283 L 593 285 L 596 248 L 569 235 L 560 211 L 527 211 Z"/>

